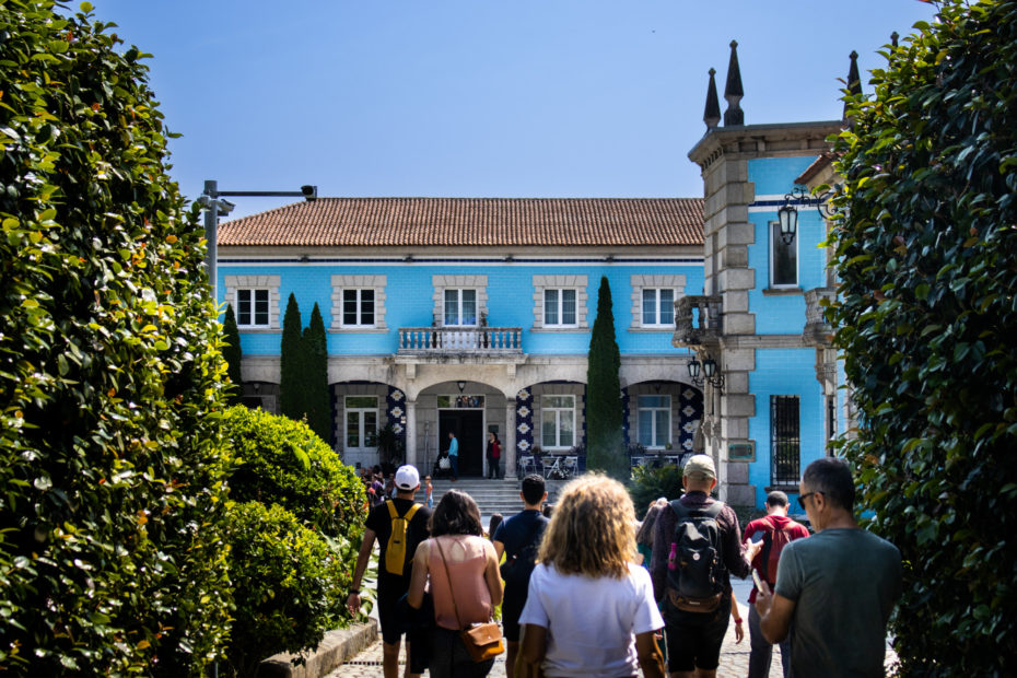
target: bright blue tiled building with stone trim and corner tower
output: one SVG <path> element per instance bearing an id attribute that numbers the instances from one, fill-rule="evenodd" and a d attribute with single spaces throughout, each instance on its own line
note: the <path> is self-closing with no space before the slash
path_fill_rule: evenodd
<path id="1" fill-rule="evenodd" d="M 843 122 L 745 125 L 736 47 L 724 125 L 711 70 L 689 153 L 704 199 L 323 198 L 223 223 L 218 301 L 237 316 L 245 397 L 277 409 L 292 293 L 305 323 L 315 304 L 325 319 L 347 464 L 378 461 L 386 423 L 422 468 L 448 431 L 466 475 L 486 470 L 488 431 L 510 471 L 535 448 L 576 456 L 607 277 L 626 442 L 675 463 L 713 455 L 736 505 L 796 493 L 850 419 L 819 306 L 827 225 L 795 195 L 829 179 Z M 798 218 L 791 237 L 781 208 Z"/>

